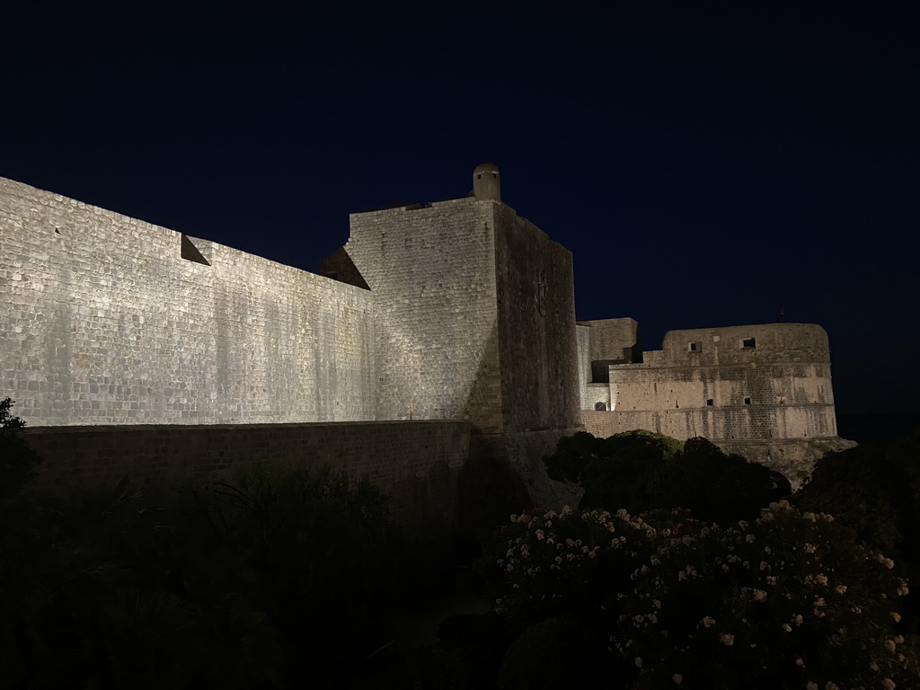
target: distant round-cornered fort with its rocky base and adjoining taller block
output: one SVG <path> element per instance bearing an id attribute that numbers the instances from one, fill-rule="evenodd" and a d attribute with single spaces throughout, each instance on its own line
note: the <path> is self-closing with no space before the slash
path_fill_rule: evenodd
<path id="1" fill-rule="evenodd" d="M 631 318 L 578 326 L 581 420 L 610 436 L 646 429 L 705 436 L 793 484 L 837 438 L 831 351 L 815 324 L 672 330 L 640 351 Z"/>

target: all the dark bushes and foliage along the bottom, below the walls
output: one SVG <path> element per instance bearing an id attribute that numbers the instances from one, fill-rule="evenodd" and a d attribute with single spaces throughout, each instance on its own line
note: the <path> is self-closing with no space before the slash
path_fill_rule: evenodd
<path id="1" fill-rule="evenodd" d="M 493 610 L 373 657 L 389 615 L 450 589 L 454 558 L 391 525 L 372 486 L 254 464 L 225 483 L 40 495 L 10 406 L 5 687 L 920 686 L 905 584 L 920 431 L 828 454 L 792 495 L 705 439 L 563 439 L 547 472 L 580 484 L 581 505 L 481 535 Z"/>

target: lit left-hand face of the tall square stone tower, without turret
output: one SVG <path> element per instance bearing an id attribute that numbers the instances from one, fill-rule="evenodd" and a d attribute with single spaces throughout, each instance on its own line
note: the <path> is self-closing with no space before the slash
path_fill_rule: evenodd
<path id="1" fill-rule="evenodd" d="M 345 250 L 374 295 L 378 419 L 501 428 L 495 203 L 351 215 Z"/>

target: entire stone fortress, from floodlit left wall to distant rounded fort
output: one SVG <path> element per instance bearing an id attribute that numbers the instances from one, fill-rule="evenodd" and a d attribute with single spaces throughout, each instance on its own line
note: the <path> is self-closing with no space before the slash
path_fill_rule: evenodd
<path id="1" fill-rule="evenodd" d="M 428 455 L 408 422 L 438 420 L 469 437 L 467 466 L 506 461 L 515 490 L 544 498 L 542 456 L 584 428 L 707 435 L 787 474 L 839 442 L 822 328 L 672 331 L 642 352 L 632 319 L 576 324 L 569 250 L 501 201 L 490 163 L 466 197 L 351 214 L 321 273 L 0 178 L 0 397 L 30 427 L 169 438 L 347 422 L 356 463 L 360 423 L 394 423 Z"/>

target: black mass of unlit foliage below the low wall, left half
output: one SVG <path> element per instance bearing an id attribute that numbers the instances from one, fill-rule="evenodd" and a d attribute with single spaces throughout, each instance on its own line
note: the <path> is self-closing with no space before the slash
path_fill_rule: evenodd
<path id="1" fill-rule="evenodd" d="M 2 687 L 336 686 L 443 586 L 442 545 L 397 531 L 367 482 L 254 465 L 40 495 L 0 413 Z"/>

